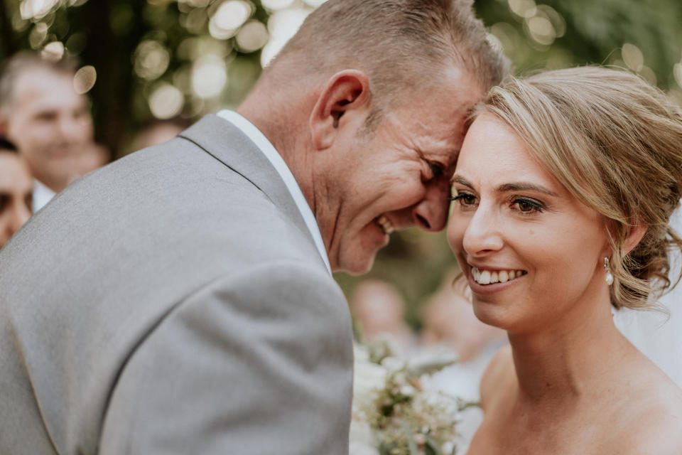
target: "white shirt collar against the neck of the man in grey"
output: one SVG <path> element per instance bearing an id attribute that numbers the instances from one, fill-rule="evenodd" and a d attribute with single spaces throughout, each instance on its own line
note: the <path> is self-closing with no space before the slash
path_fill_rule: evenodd
<path id="1" fill-rule="evenodd" d="M 313 210 L 310 210 L 310 205 L 308 205 L 308 201 L 305 200 L 305 196 L 303 196 L 301 187 L 298 186 L 296 178 L 293 177 L 291 170 L 286 165 L 281 155 L 270 143 L 268 138 L 266 138 L 265 135 L 254 126 L 254 124 L 252 124 L 251 122 L 249 122 L 249 120 L 242 117 L 242 115 L 237 114 L 237 112 L 228 109 L 221 110 L 220 112 L 218 112 L 217 115 L 218 117 L 227 120 L 227 122 L 232 123 L 235 127 L 242 130 L 242 132 L 246 134 L 249 137 L 249 139 L 251 139 L 251 141 L 253 141 L 254 144 L 256 144 L 256 146 L 263 152 L 266 158 L 271 162 L 272 166 L 274 166 L 275 170 L 284 181 L 284 184 L 286 185 L 286 188 L 288 189 L 289 193 L 291 193 L 291 197 L 296 203 L 298 211 L 301 212 L 303 220 L 305 220 L 305 225 L 308 226 L 310 235 L 313 236 L 313 240 L 315 241 L 315 247 L 318 248 L 318 252 L 320 252 L 320 256 L 325 262 L 328 272 L 331 274 L 332 267 L 329 264 L 327 250 L 325 250 L 325 244 L 322 240 L 322 235 L 320 234 L 320 228 L 318 227 L 318 223 L 315 220 L 315 215 L 313 215 Z"/>

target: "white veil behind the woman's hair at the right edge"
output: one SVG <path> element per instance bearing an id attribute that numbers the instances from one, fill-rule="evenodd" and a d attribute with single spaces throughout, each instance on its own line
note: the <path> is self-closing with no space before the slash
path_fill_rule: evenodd
<path id="1" fill-rule="evenodd" d="M 678 235 L 682 234 L 682 208 L 675 210 L 670 225 Z M 681 252 L 673 252 L 670 262 L 674 283 L 682 267 Z M 614 320 L 629 341 L 682 388 L 682 282 L 660 303 L 670 311 L 670 319 L 656 311 L 620 309 L 615 311 Z"/>

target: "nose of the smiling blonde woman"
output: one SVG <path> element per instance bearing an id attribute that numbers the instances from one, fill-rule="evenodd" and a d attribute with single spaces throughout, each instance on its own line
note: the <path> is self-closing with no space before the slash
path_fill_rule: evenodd
<path id="1" fill-rule="evenodd" d="M 492 205 L 480 203 L 464 232 L 462 246 L 468 255 L 483 257 L 502 249 L 501 220 Z"/>

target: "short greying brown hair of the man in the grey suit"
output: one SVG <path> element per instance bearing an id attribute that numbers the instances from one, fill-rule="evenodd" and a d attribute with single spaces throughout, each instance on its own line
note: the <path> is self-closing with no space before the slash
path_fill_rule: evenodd
<path id="1" fill-rule="evenodd" d="M 281 81 L 330 77 L 345 69 L 369 77 L 370 118 L 397 102 L 405 90 L 428 90 L 456 66 L 483 90 L 502 81 L 507 60 L 488 41 L 472 0 L 328 0 L 303 22 L 266 68 Z"/>

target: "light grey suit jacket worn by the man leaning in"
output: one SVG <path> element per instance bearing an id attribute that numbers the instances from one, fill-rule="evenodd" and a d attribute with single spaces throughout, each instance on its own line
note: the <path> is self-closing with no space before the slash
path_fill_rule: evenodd
<path id="1" fill-rule="evenodd" d="M 351 339 L 278 173 L 208 116 L 0 253 L 0 454 L 347 454 Z"/>

